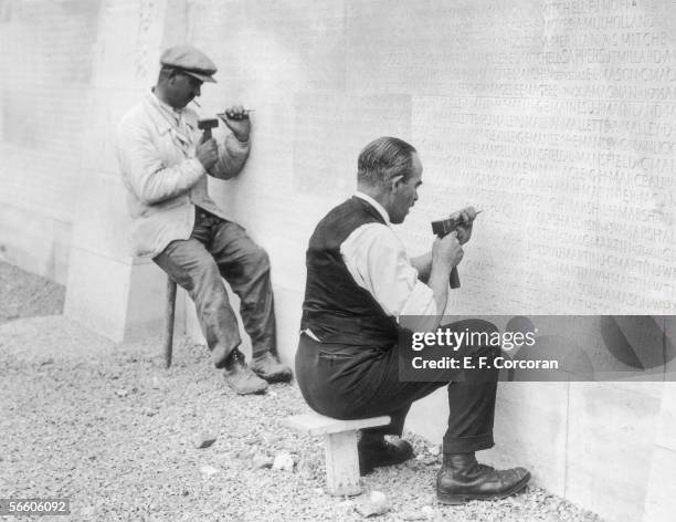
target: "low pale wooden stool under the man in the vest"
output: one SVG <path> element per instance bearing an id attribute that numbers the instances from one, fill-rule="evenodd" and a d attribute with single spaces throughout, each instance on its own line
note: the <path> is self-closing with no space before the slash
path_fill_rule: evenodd
<path id="1" fill-rule="evenodd" d="M 390 417 L 339 420 L 315 411 L 287 417 L 286 425 L 311 437 L 324 436 L 327 491 L 334 495 L 361 493 L 357 430 L 390 424 Z"/>

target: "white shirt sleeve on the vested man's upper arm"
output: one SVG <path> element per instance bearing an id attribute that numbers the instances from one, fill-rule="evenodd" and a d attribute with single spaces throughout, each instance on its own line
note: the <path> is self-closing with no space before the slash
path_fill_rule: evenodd
<path id="1" fill-rule="evenodd" d="M 435 315 L 432 289 L 418 279 L 405 248 L 390 227 L 367 223 L 340 246 L 355 282 L 367 290 L 388 314 Z"/>

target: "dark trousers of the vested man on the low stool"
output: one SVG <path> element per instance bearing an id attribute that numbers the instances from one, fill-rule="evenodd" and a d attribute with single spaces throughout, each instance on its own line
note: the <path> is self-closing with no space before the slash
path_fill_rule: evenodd
<path id="1" fill-rule="evenodd" d="M 444 328 L 495 332 L 485 321 L 458 321 Z M 463 355 L 493 357 L 495 347 L 473 347 Z M 448 370 L 446 370 L 447 374 Z M 456 377 L 461 376 L 457 370 Z M 465 453 L 493 447 L 493 420 L 498 370 L 480 376 L 480 382 L 409 383 L 399 378 L 399 345 L 389 349 L 327 344 L 300 335 L 296 352 L 296 379 L 307 404 L 316 411 L 339 419 L 389 415 L 389 426 L 370 428 L 374 435 L 401 436 L 404 420 L 414 400 L 447 386 L 448 428 L 444 452 Z M 440 370 L 441 378 L 441 370 Z"/>

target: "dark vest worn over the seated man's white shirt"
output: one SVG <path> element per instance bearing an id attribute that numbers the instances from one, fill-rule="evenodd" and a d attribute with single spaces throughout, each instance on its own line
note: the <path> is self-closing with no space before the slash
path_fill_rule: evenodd
<path id="1" fill-rule="evenodd" d="M 397 321 L 355 282 L 340 255 L 342 242 L 366 223 L 385 225 L 378 210 L 352 197 L 319 221 L 309 240 L 300 327 L 324 343 L 390 347 L 397 342 Z"/>

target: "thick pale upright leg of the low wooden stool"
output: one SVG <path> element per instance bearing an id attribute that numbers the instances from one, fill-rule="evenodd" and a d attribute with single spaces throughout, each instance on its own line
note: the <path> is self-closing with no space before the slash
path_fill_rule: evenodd
<path id="1" fill-rule="evenodd" d="M 339 497 L 361 493 L 357 430 L 326 435 L 324 449 L 327 491 Z"/>

